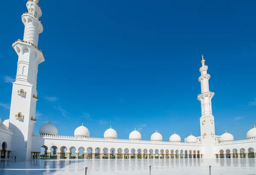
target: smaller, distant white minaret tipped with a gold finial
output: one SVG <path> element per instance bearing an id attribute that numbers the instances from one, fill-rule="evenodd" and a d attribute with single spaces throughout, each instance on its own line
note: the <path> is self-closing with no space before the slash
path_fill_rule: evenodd
<path id="1" fill-rule="evenodd" d="M 209 79 L 211 76 L 207 73 L 208 66 L 204 64 L 204 55 L 202 55 L 201 63 L 202 66 L 199 69 L 201 76 L 198 78 L 201 83 L 201 93 L 198 95 L 202 113 L 200 118 L 201 143 L 204 144 L 204 158 L 214 158 L 215 127 L 214 117 L 212 116 L 212 97 L 214 92 L 209 91 Z"/>

